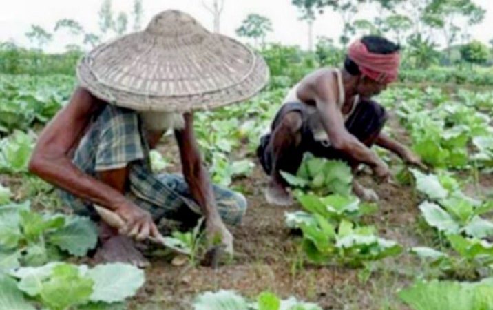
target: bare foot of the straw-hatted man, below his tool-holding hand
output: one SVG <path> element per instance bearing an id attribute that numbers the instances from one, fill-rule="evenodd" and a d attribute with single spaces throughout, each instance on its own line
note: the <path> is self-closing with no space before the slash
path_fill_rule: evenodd
<path id="1" fill-rule="evenodd" d="M 136 249 L 134 240 L 126 236 L 112 236 L 105 240 L 94 259 L 97 262 L 126 262 L 140 268 L 150 265 L 149 260 Z"/>

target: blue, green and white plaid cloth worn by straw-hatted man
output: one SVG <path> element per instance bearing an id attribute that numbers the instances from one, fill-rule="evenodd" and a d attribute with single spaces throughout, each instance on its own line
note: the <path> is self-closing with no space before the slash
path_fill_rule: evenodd
<path id="1" fill-rule="evenodd" d="M 125 193 L 154 220 L 162 218 L 187 220 L 200 214 L 200 207 L 191 197 L 188 185 L 177 174 L 153 174 L 145 131 L 134 110 L 107 105 L 96 116 L 90 130 L 82 138 L 73 159 L 86 174 L 97 178 L 98 172 L 129 165 L 129 192 Z M 237 225 L 246 211 L 242 194 L 213 185 L 216 205 L 224 223 Z M 61 198 L 78 214 L 94 216 L 88 201 L 62 191 Z"/>

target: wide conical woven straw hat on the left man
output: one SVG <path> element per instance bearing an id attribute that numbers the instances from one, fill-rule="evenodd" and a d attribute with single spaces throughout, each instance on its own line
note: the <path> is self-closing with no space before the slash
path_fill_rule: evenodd
<path id="1" fill-rule="evenodd" d="M 185 112 L 244 101 L 269 79 L 242 43 L 211 34 L 189 14 L 167 10 L 142 32 L 98 46 L 78 64 L 94 96 L 140 111 Z"/>

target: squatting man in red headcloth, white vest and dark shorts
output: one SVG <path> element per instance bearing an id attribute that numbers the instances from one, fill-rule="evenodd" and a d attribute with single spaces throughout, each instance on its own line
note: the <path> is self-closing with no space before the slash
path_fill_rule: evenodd
<path id="1" fill-rule="evenodd" d="M 266 200 L 291 204 L 281 171 L 296 174 L 304 152 L 373 169 L 381 179 L 390 172 L 370 147 L 375 143 L 398 154 L 407 163 L 422 166 L 407 147 L 381 132 L 387 114 L 371 100 L 397 79 L 399 45 L 378 36 L 367 36 L 350 45 L 341 70 L 322 68 L 297 83 L 287 94 L 271 125 L 261 138 L 258 157 L 270 176 Z M 355 194 L 375 200 L 373 190 L 353 183 Z"/>

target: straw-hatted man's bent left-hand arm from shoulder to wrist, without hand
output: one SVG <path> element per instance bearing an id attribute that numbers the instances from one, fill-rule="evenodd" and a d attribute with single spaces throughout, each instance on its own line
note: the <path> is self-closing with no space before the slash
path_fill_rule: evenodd
<path id="1" fill-rule="evenodd" d="M 79 87 L 72 95 L 70 103 L 41 132 L 29 169 L 43 180 L 78 197 L 115 210 L 125 202 L 123 194 L 83 173 L 69 156 L 70 150 L 80 141 L 89 125 L 91 116 L 103 107 L 103 102 Z"/>

